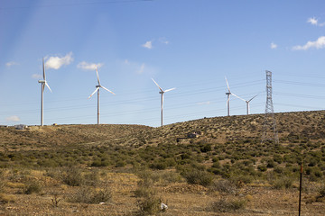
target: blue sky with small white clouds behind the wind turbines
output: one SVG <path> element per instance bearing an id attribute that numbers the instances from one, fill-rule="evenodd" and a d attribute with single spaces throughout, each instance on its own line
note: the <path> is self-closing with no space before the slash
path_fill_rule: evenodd
<path id="1" fill-rule="evenodd" d="M 324 1 L 0 0 L 0 124 L 160 125 L 227 115 L 227 85 L 265 112 L 324 109 Z M 232 96 L 231 115 L 246 113 Z"/>

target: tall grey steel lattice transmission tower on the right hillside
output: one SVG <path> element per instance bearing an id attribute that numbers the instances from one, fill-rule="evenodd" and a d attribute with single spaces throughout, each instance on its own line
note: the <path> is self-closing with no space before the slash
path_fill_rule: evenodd
<path id="1" fill-rule="evenodd" d="M 276 130 L 276 121 L 274 118 L 274 106 L 272 101 L 272 72 L 266 70 L 266 103 L 265 103 L 265 121 L 263 125 L 262 143 L 266 140 L 279 143 Z"/>

